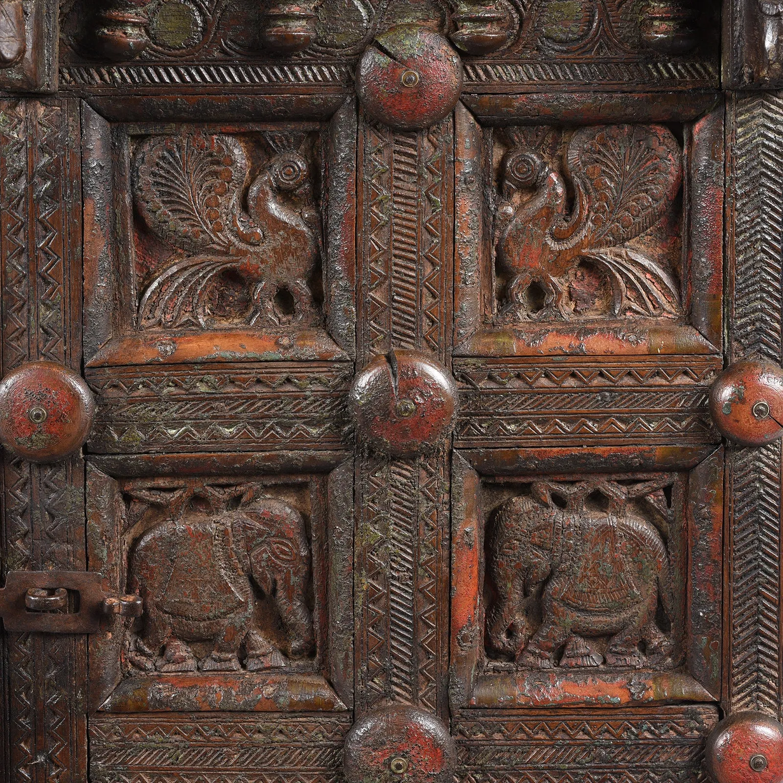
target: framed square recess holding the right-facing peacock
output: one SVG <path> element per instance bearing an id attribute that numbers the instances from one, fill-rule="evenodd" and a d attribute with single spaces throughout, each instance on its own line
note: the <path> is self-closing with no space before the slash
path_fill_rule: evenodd
<path id="1" fill-rule="evenodd" d="M 327 207 L 334 141 L 328 122 L 92 114 L 85 166 L 102 145 L 115 154 L 86 178 L 88 366 L 348 359 L 351 251 L 328 236 L 352 218 Z"/>

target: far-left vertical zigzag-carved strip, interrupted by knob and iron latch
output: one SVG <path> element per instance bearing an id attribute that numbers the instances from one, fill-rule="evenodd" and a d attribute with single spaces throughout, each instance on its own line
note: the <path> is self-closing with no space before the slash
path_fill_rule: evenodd
<path id="1" fill-rule="evenodd" d="M 81 366 L 81 179 L 78 103 L 0 107 L 2 371 L 35 359 Z M 80 457 L 31 465 L 5 456 L 6 569 L 85 568 Z M 84 770 L 85 642 L 6 634 L 10 781 Z"/>

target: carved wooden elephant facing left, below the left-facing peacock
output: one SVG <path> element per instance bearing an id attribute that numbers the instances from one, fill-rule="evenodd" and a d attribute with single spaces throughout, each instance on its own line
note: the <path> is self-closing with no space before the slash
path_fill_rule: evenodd
<path id="1" fill-rule="evenodd" d="M 537 669 L 604 660 L 673 665 L 671 633 L 656 623 L 659 599 L 669 623 L 675 601 L 655 525 L 635 514 L 562 509 L 535 483 L 532 496 L 505 501 L 493 523 L 488 570 L 496 601 L 487 631 L 496 653 Z"/>

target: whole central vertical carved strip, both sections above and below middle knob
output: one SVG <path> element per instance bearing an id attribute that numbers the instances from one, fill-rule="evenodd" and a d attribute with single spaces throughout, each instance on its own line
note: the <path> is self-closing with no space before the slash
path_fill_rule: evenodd
<path id="1" fill-rule="evenodd" d="M 359 366 L 392 348 L 445 362 L 453 253 L 453 125 L 359 132 Z M 445 446 L 409 460 L 360 456 L 356 707 L 386 700 L 443 713 L 448 602 Z"/>

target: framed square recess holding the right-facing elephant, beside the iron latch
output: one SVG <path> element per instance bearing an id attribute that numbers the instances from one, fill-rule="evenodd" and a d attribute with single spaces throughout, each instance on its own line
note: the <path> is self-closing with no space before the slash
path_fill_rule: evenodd
<path id="1" fill-rule="evenodd" d="M 143 600 L 91 637 L 95 707 L 346 709 L 332 675 L 348 681 L 334 667 L 350 636 L 327 599 L 344 600 L 350 558 L 333 550 L 334 478 L 89 470 L 90 567 Z"/>

